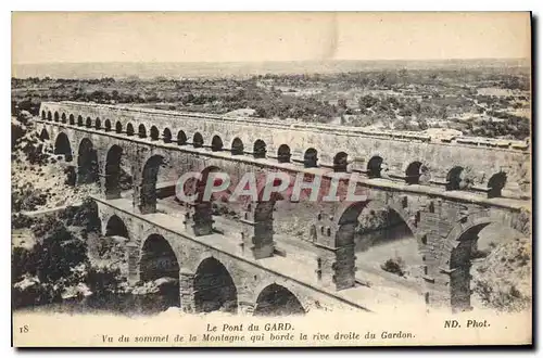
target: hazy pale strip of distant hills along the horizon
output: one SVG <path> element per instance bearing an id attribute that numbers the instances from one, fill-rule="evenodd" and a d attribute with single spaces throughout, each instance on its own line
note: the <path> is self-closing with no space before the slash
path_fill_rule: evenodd
<path id="1" fill-rule="evenodd" d="M 265 74 L 331 74 L 380 69 L 455 69 L 455 68 L 530 67 L 527 59 L 434 60 L 434 61 L 303 61 L 303 62 L 177 62 L 177 63 L 42 63 L 14 64 L 12 77 L 51 78 L 167 78 L 248 77 Z"/>

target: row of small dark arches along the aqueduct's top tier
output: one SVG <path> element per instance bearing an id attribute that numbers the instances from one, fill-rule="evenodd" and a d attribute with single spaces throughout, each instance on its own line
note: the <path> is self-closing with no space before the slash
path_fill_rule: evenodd
<path id="1" fill-rule="evenodd" d="M 262 138 L 247 139 L 247 136 L 238 136 L 229 139 L 220 133 L 205 135 L 200 131 L 189 133 L 184 129 L 168 126 L 153 125 L 150 128 L 146 124 L 124 123 L 112 118 L 100 118 L 72 113 L 54 111 L 41 111 L 45 120 L 63 122 L 70 120 L 71 125 L 96 129 L 101 131 L 114 131 L 117 135 L 140 138 L 169 145 L 189 145 L 194 149 L 207 149 L 213 152 L 230 152 L 232 155 L 249 155 L 256 159 L 275 159 L 281 164 L 293 164 L 305 168 L 330 168 L 336 172 L 358 171 L 369 178 L 386 178 L 404 181 L 407 184 L 442 184 L 446 190 L 475 190 L 488 194 L 489 197 L 502 195 L 502 189 L 507 183 L 507 174 L 500 169 L 488 172 L 482 178 L 473 178 L 473 170 L 469 166 L 452 165 L 443 175 L 435 176 L 435 166 L 432 167 L 417 154 L 402 165 L 402 168 L 389 166 L 388 158 L 382 153 L 368 153 L 362 157 L 357 153 L 349 153 L 345 149 L 338 149 L 336 153 L 324 153 L 318 146 L 307 144 L 292 149 L 291 143 L 281 143 L 269 148 Z M 61 119 L 62 118 L 62 119 Z M 77 118 L 77 120 L 76 120 Z M 85 118 L 85 119 L 84 119 Z M 175 137 L 177 133 L 177 137 Z M 177 139 L 177 140 L 176 140 Z M 277 144 L 277 143 L 276 143 Z"/>

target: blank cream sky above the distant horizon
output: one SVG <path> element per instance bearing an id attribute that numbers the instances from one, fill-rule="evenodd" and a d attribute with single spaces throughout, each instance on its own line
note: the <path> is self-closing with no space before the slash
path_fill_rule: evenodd
<path id="1" fill-rule="evenodd" d="M 529 59 L 530 14 L 14 12 L 12 63 Z"/>

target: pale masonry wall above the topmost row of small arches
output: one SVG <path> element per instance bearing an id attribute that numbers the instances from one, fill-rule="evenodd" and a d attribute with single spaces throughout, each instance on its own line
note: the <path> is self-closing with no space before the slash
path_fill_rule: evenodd
<path id="1" fill-rule="evenodd" d="M 103 126 L 109 119 L 114 130 L 119 122 L 126 131 L 128 123 L 137 133 L 140 124 L 146 126 L 148 136 L 155 126 L 162 138 L 165 128 L 175 141 L 182 130 L 188 143 L 194 133 L 202 135 L 204 146 L 210 146 L 214 136 L 220 137 L 224 148 L 229 150 L 236 138 L 241 139 L 247 153 L 252 153 L 253 143 L 261 139 L 266 143 L 267 156 L 277 157 L 281 144 L 291 149 L 292 159 L 303 162 L 310 148 L 318 152 L 318 164 L 333 166 L 337 153 L 345 152 L 352 167 L 365 169 L 368 161 L 379 155 L 384 159 L 389 172 L 394 176 L 405 174 L 407 165 L 419 161 L 428 169 L 434 182 L 445 180 L 449 170 L 455 166 L 469 168 L 477 186 L 485 187 L 491 176 L 500 171 L 507 174 L 506 189 L 514 195 L 530 194 L 530 153 L 525 142 L 488 140 L 478 142 L 469 138 L 458 138 L 453 142 L 432 140 L 416 133 L 365 132 L 363 129 L 341 129 L 311 125 L 282 125 L 270 120 L 226 119 L 203 114 L 180 114 L 167 111 L 123 108 L 112 105 L 97 105 L 77 102 L 43 102 L 40 113 L 60 113 L 81 116 L 84 123 L 89 117 L 92 124 L 100 118 Z M 257 125 L 256 125 L 257 124 Z M 354 161 L 354 163 L 353 163 Z"/>

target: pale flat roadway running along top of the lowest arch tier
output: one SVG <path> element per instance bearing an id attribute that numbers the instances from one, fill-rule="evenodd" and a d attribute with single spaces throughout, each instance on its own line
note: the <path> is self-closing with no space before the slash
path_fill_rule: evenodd
<path id="1" fill-rule="evenodd" d="M 306 309 L 315 308 L 312 307 L 311 303 L 315 299 L 318 299 L 321 306 L 329 308 L 343 307 L 365 311 L 393 309 L 393 307 L 405 306 L 406 303 L 412 309 L 419 309 L 420 314 L 427 309 L 424 297 L 413 291 L 397 290 L 380 284 L 370 287 L 357 284 L 350 290 L 336 291 L 334 287 L 323 284 L 315 276 L 316 252 L 311 245 L 301 241 L 293 242 L 288 238 L 278 236 L 279 250 L 285 250 L 286 256 L 277 255 L 263 259 L 250 259 L 241 252 L 239 236 L 233 233 L 236 228 L 228 220 L 216 218 L 216 228 L 223 233 L 195 236 L 190 230 L 187 230 L 182 222 L 182 208 L 178 209 L 175 216 L 159 212 L 141 215 L 134 210 L 132 203 L 128 199 L 104 200 L 98 196 L 92 196 L 92 199 L 102 204 L 100 205 L 101 210 L 112 212 L 124 218 L 131 217 L 135 226 L 152 226 L 173 233 L 180 243 L 178 247 L 186 250 L 187 243 L 190 242 L 214 257 L 217 254 L 223 254 L 223 257 L 235 263 L 229 264 L 230 267 L 235 265 L 251 272 L 263 272 L 263 276 L 270 278 L 273 282 L 281 282 L 282 285 L 288 286 L 304 303 Z M 167 206 L 163 205 L 161 209 L 167 209 Z M 184 263 L 179 264 L 182 267 Z M 364 272 L 361 273 L 361 278 L 364 281 L 382 282 L 377 274 Z"/>

